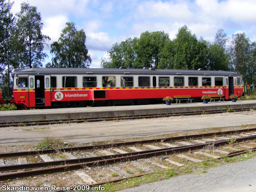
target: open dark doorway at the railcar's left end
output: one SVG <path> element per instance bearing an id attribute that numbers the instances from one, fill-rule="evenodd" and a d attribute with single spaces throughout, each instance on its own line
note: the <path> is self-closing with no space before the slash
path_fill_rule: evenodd
<path id="1" fill-rule="evenodd" d="M 44 76 L 35 76 L 35 100 L 36 106 L 44 106 Z"/>

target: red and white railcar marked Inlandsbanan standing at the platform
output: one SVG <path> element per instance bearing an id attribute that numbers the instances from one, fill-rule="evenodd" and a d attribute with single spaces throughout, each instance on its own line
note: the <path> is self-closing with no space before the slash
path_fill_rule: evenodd
<path id="1" fill-rule="evenodd" d="M 13 97 L 18 108 L 57 108 L 162 103 L 162 98 L 208 94 L 242 96 L 242 75 L 228 71 L 27 68 L 15 69 Z"/>

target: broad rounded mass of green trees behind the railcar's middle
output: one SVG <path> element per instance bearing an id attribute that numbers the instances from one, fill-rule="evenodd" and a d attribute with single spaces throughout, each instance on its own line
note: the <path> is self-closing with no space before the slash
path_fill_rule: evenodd
<path id="1" fill-rule="evenodd" d="M 109 58 L 101 61 L 103 68 L 158 68 L 161 52 L 165 44 L 170 41 L 169 35 L 157 32 L 143 32 L 140 38 L 128 38 L 120 44 L 115 43 L 108 51 Z"/>

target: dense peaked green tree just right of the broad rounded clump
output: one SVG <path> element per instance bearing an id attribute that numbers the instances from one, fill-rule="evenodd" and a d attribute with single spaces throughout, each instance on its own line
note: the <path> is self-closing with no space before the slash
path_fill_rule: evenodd
<path id="1" fill-rule="evenodd" d="M 208 64 L 208 42 L 196 38 L 186 25 L 179 28 L 174 39 L 174 69 L 192 69 L 207 68 Z"/>

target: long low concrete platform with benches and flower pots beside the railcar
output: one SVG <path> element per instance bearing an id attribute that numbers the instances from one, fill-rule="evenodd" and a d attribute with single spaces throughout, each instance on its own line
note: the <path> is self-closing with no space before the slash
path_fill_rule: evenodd
<path id="1" fill-rule="evenodd" d="M 223 108 L 238 109 L 256 107 L 256 100 L 211 102 L 208 104 L 155 104 L 137 106 L 109 106 L 109 107 L 84 107 L 84 108 L 59 108 L 0 111 L 0 122 L 21 122 L 34 120 L 64 120 L 80 118 L 106 118 L 114 116 L 131 116 L 145 114 L 166 114 L 179 112 L 196 112 L 208 110 L 221 110 Z"/>

